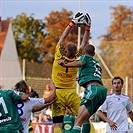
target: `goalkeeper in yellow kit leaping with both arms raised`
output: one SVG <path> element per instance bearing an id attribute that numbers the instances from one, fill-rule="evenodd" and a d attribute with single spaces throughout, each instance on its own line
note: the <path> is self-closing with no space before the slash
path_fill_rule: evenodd
<path id="1" fill-rule="evenodd" d="M 66 43 L 66 38 L 77 24 L 86 25 L 85 15 L 78 12 L 69 23 L 61 35 L 55 49 L 55 60 L 52 69 L 52 80 L 56 87 L 56 101 L 53 103 L 52 116 L 54 133 L 62 132 L 62 122 L 66 107 L 69 107 L 72 115 L 78 113 L 80 98 L 74 89 L 75 78 L 77 76 L 77 68 L 65 68 L 58 64 L 58 60 L 63 59 L 65 62 L 72 62 L 82 54 L 83 48 L 87 44 L 90 37 L 90 26 L 85 26 L 85 33 L 79 50 L 73 42 Z"/>

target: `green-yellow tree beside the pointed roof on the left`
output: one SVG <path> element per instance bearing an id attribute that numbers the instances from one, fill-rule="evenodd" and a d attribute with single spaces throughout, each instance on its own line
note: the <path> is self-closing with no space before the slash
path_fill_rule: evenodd
<path id="1" fill-rule="evenodd" d="M 12 19 L 12 24 L 19 57 L 32 62 L 37 61 L 45 37 L 44 22 L 35 20 L 33 14 L 27 16 L 21 13 Z"/>

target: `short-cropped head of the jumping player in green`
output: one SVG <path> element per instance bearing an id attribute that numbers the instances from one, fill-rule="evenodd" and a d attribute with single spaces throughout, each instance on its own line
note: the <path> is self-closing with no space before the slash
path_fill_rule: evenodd
<path id="1" fill-rule="evenodd" d="M 91 55 L 91 56 L 94 56 L 95 55 L 95 47 L 91 44 L 87 44 L 85 47 L 84 47 L 84 52 L 85 54 L 87 55 Z"/>

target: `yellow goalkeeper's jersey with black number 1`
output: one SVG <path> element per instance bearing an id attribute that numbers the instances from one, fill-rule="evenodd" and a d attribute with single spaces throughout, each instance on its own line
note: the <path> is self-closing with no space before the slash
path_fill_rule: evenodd
<path id="1" fill-rule="evenodd" d="M 61 45 L 56 46 L 55 59 L 52 68 L 52 80 L 56 87 L 61 89 L 74 88 L 74 81 L 77 76 L 78 68 L 62 67 L 58 64 L 58 60 L 63 59 L 65 62 L 72 62 L 81 54 L 82 50 L 80 49 L 73 59 L 69 59 L 63 54 L 63 47 Z"/>

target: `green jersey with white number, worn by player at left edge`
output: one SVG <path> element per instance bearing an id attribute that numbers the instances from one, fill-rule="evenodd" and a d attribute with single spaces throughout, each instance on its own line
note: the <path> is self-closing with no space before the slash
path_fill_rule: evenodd
<path id="1" fill-rule="evenodd" d="M 10 127 L 14 130 L 22 130 L 16 100 L 20 100 L 21 96 L 16 95 L 12 90 L 0 90 L 0 129 L 1 127 Z"/>

